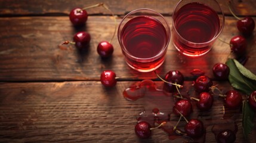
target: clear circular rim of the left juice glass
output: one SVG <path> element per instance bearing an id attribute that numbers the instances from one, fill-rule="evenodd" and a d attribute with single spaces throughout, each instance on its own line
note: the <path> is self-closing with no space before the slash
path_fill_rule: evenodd
<path id="1" fill-rule="evenodd" d="M 122 39 L 120 37 L 121 35 L 121 24 L 124 22 L 125 18 L 127 18 L 129 15 L 131 14 L 134 14 L 135 12 L 137 11 L 151 11 L 155 14 L 157 14 L 158 16 L 160 16 L 161 18 L 163 18 L 163 20 L 165 21 L 166 25 L 167 25 L 167 29 L 166 29 L 166 36 L 167 36 L 167 41 L 165 43 L 165 46 L 164 48 L 161 49 L 161 51 L 158 52 L 158 54 L 156 54 L 155 56 L 153 57 L 150 57 L 150 58 L 138 58 L 138 57 L 135 57 L 133 55 L 131 55 L 128 51 L 127 51 L 127 48 L 125 48 L 123 42 L 122 42 Z M 159 20 L 158 20 L 159 21 Z M 163 24 L 161 21 L 159 21 L 161 24 Z M 163 24 L 164 25 L 164 24 Z M 164 26 L 165 27 L 165 26 Z M 158 12 L 156 12 L 155 10 L 152 10 L 150 8 L 138 8 L 136 10 L 132 10 L 131 12 L 129 12 L 127 15 L 124 16 L 124 18 L 122 18 L 121 22 L 119 23 L 119 26 L 118 26 L 118 41 L 119 41 L 119 44 L 122 48 L 122 51 L 125 52 L 125 56 L 129 57 L 129 58 L 132 58 L 132 59 L 135 59 L 135 60 L 144 60 L 144 62 L 148 62 L 148 61 L 151 61 L 151 60 L 155 60 L 155 58 L 158 58 L 158 57 L 161 57 L 162 54 L 164 54 L 164 52 L 166 51 L 166 49 L 168 48 L 168 45 L 169 45 L 169 42 L 171 41 L 171 28 L 169 26 L 169 23 L 167 22 L 167 20 L 164 18 L 164 16 Z M 143 61 L 141 61 L 143 63 Z"/>

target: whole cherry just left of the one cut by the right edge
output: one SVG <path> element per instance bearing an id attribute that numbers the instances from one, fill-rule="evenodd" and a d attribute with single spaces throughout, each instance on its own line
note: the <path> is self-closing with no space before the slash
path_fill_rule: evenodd
<path id="1" fill-rule="evenodd" d="M 231 90 L 226 93 L 225 102 L 228 108 L 239 108 L 242 105 L 242 95 L 238 91 Z"/>

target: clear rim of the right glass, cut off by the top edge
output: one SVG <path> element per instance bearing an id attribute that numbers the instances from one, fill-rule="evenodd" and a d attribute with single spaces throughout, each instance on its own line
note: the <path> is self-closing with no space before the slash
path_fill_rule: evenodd
<path id="1" fill-rule="evenodd" d="M 192 44 L 194 44 L 194 45 L 204 45 L 204 44 L 211 43 L 212 41 L 215 41 L 215 39 L 217 39 L 218 36 L 220 36 L 220 33 L 221 33 L 221 31 L 223 30 L 223 28 L 224 28 L 224 23 L 225 23 L 225 15 L 224 15 L 224 12 L 223 12 L 222 8 L 220 7 L 220 4 L 218 4 L 218 2 L 217 2 L 216 0 L 213 0 L 213 1 L 218 5 L 218 8 L 220 8 L 220 11 L 221 11 L 221 14 L 218 14 L 218 13 L 217 13 L 217 14 L 223 16 L 223 20 L 222 20 L 222 23 L 223 23 L 223 24 L 222 24 L 220 30 L 218 30 L 218 34 L 215 35 L 214 38 L 212 38 L 210 41 L 202 42 L 202 43 L 196 43 L 196 42 L 188 41 L 187 39 L 183 38 L 183 36 L 181 36 L 180 33 L 178 33 L 178 31 L 177 31 L 177 29 L 176 29 L 176 27 L 175 27 L 175 25 L 174 25 L 174 18 L 173 18 L 173 17 L 174 17 L 174 16 L 173 16 L 173 15 L 174 15 L 174 11 L 177 9 L 178 5 L 179 5 L 182 1 L 184 1 L 184 0 L 180 0 L 180 1 L 178 2 L 178 4 L 175 5 L 174 10 L 172 11 L 172 27 L 174 27 L 174 30 L 175 30 L 175 32 L 177 33 L 178 37 L 180 37 L 183 41 L 187 41 L 187 42 L 192 43 Z M 202 2 L 201 2 L 201 3 L 202 3 Z M 205 3 L 202 3 L 202 4 L 205 4 Z M 206 5 L 207 5 L 207 4 L 206 4 Z M 208 7 L 209 7 L 209 5 L 208 5 Z M 212 10 L 214 10 L 214 9 L 212 8 Z M 214 10 L 214 11 L 215 11 L 215 10 Z"/>

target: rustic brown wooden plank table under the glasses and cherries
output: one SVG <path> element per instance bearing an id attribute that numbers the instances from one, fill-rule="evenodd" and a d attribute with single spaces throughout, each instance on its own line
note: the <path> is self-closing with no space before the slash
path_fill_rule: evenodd
<path id="1" fill-rule="evenodd" d="M 113 17 L 102 7 L 88 10 L 85 27 L 75 29 L 68 14 L 75 7 L 87 7 L 101 1 L 0 1 L 0 142 L 183 142 L 174 141 L 161 129 L 153 131 L 152 138 L 138 139 L 134 133 L 136 118 L 145 108 L 146 101 L 127 101 L 122 92 L 132 83 L 143 79 L 161 82 L 155 74 L 138 73 L 125 64 L 117 36 L 113 39 L 115 51 L 112 57 L 102 59 L 97 54 L 98 42 L 109 41 L 115 27 Z M 175 1 L 104 1 L 110 10 L 122 17 L 137 8 L 152 8 L 163 14 L 170 26 Z M 239 35 L 236 19 L 230 14 L 227 1 L 220 2 L 226 15 L 225 26 L 220 38 L 229 42 Z M 233 8 L 239 16 L 251 15 L 256 21 L 255 0 L 233 0 Z M 85 30 L 91 35 L 90 49 L 78 52 L 75 46 L 60 46 L 63 41 L 72 40 L 73 35 Z M 248 40 L 248 61 L 245 67 L 256 73 L 256 40 Z M 66 48 L 65 48 L 66 47 Z M 160 76 L 169 70 L 180 70 L 185 76 L 185 89 L 193 89 L 193 69 L 205 71 L 205 75 L 218 84 L 221 91 L 232 89 L 229 81 L 215 80 L 212 67 L 225 63 L 230 48 L 217 41 L 212 50 L 199 58 L 184 57 L 169 44 L 166 61 L 158 69 Z M 119 77 L 114 88 L 104 88 L 100 73 L 113 70 Z M 194 93 L 192 96 L 196 96 Z M 172 97 L 170 97 L 172 98 Z M 156 102 L 162 102 L 161 99 Z M 200 112 L 193 104 L 193 114 L 206 125 L 206 142 L 215 142 L 211 132 L 215 123 L 223 118 L 223 100 L 215 97 L 211 111 Z M 172 105 L 158 107 L 171 111 Z M 238 125 L 236 142 L 256 142 L 256 129 L 246 141 L 242 132 L 242 113 L 229 111 L 227 116 Z M 171 117 L 172 125 L 178 117 Z M 208 120 L 211 120 L 209 122 Z M 224 123 L 224 122 L 223 122 Z M 255 123 L 255 122 L 254 122 Z M 180 124 L 181 129 L 184 121 Z"/>

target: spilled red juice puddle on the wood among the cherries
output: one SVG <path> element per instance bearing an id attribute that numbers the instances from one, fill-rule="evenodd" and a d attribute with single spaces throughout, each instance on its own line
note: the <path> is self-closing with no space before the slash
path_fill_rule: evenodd
<path id="1" fill-rule="evenodd" d="M 178 117 L 172 114 L 172 107 L 175 102 L 174 97 L 156 86 L 156 83 L 152 80 L 143 80 L 132 84 L 125 89 L 123 95 L 126 100 L 143 105 L 144 111 L 139 114 L 137 122 L 146 121 L 153 127 L 166 122 L 165 126 L 159 128 L 166 133 L 166 138 L 170 140 L 180 138 L 181 141 L 187 142 L 205 142 L 205 132 L 200 138 L 192 139 L 184 135 L 184 126 L 177 128 L 180 133 L 173 130 L 178 120 Z M 177 120 L 171 119 L 173 117 L 177 118 Z M 184 120 L 181 122 L 184 122 Z"/>

